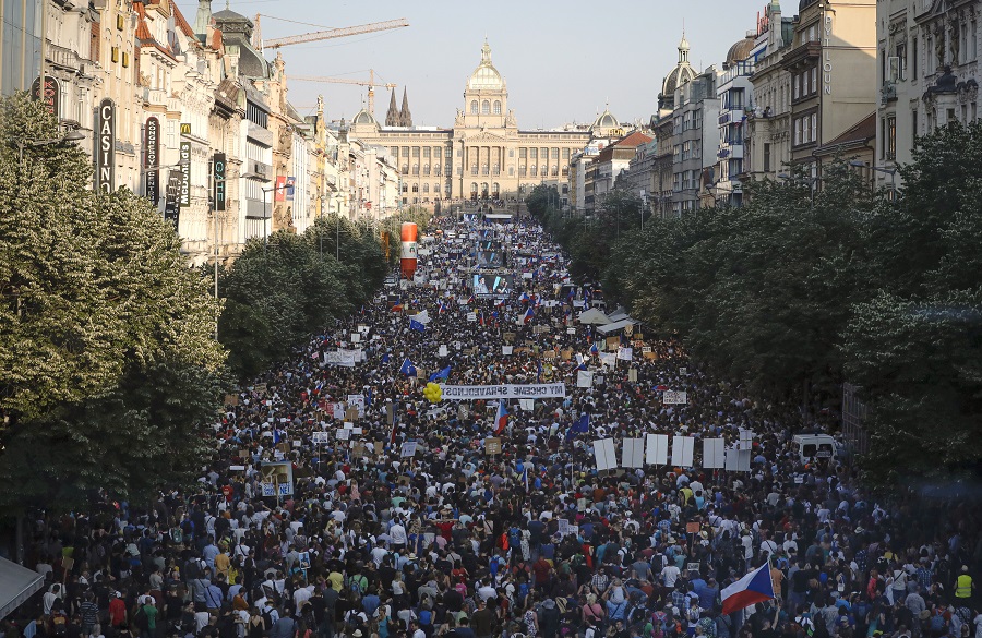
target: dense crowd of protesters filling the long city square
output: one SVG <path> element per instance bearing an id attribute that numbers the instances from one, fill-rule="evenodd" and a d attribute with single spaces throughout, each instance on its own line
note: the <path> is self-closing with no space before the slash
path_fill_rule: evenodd
<path id="1" fill-rule="evenodd" d="M 647 327 L 622 334 L 630 361 L 601 364 L 541 228 L 482 228 L 510 251 L 506 298 L 468 288 L 477 227 L 438 218 L 412 280 L 227 398 L 195 490 L 33 516 L 49 585 L 7 638 L 982 638 L 970 506 L 877 502 L 842 458 L 793 447 L 821 414 L 754 400 Z M 339 348 L 354 366 L 326 363 Z M 431 404 L 433 373 L 565 396 Z M 747 472 L 597 471 L 601 437 L 741 430 Z M 271 462 L 291 469 L 273 495 Z M 722 590 L 765 564 L 775 597 L 723 614 Z"/>

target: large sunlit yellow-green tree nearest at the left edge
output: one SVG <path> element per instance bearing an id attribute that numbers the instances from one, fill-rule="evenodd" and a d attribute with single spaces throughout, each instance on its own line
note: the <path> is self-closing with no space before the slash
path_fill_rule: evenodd
<path id="1" fill-rule="evenodd" d="M 58 137 L 39 103 L 0 105 L 13 140 Z M 70 145 L 0 146 L 0 507 L 146 498 L 203 458 L 225 352 L 219 303 L 180 238 L 125 189 L 85 188 Z M 168 454 L 161 454 L 163 452 Z"/>

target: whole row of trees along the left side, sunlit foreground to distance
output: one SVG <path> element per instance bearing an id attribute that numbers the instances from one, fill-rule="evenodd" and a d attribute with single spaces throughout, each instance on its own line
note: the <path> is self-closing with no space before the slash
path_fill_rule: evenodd
<path id="1" fill-rule="evenodd" d="M 0 103 L 0 513 L 193 481 L 221 397 L 390 270 L 380 229 L 321 218 L 251 241 L 215 299 L 146 200 L 87 188 L 87 156 L 40 103 Z"/>

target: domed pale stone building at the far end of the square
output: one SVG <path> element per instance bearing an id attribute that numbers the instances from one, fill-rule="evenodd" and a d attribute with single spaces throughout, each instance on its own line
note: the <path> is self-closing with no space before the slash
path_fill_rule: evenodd
<path id="1" fill-rule="evenodd" d="M 598 129 L 606 122 L 598 118 L 594 127 L 520 130 L 508 109 L 507 84 L 491 62 L 486 41 L 453 128 L 414 127 L 405 94 L 398 113 L 393 94 L 385 124 L 361 110 L 351 122 L 351 135 L 390 149 L 402 173 L 404 204 L 430 204 L 446 198 L 508 200 L 542 182 L 565 184 L 571 156 L 595 135 L 607 136 L 609 131 Z"/>

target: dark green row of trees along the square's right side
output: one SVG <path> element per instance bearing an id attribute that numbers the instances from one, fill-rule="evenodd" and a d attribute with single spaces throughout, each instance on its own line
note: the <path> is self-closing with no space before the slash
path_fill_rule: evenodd
<path id="1" fill-rule="evenodd" d="M 839 162 L 821 188 L 764 181 L 741 208 L 644 231 L 635 208 L 620 240 L 610 218 L 537 212 L 574 273 L 759 396 L 835 405 L 843 381 L 862 386 L 862 462 L 887 484 L 982 459 L 982 125 L 922 139 L 900 172 L 893 198 Z"/>

